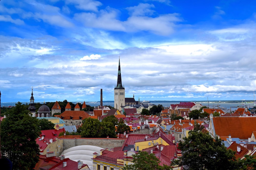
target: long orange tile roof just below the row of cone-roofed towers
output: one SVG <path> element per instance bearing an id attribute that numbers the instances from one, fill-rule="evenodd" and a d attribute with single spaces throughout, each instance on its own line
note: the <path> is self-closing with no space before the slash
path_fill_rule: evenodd
<path id="1" fill-rule="evenodd" d="M 64 120 L 69 120 L 70 116 L 72 117 L 73 120 L 79 120 L 80 117 L 81 117 L 81 120 L 90 117 L 90 115 L 85 111 L 75 111 L 75 110 L 66 110 L 56 117 L 60 117 L 60 118 L 62 117 Z"/>

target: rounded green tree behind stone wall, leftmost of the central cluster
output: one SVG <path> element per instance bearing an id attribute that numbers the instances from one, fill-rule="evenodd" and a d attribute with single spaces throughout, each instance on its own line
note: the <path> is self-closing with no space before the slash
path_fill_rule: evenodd
<path id="1" fill-rule="evenodd" d="M 84 120 L 81 130 L 81 137 L 98 138 L 100 134 L 100 121 L 90 117 Z"/>

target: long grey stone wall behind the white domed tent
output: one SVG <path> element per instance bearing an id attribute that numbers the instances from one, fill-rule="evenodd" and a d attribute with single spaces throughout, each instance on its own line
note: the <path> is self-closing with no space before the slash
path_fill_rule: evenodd
<path id="1" fill-rule="evenodd" d="M 120 138 L 63 138 L 64 150 L 80 145 L 92 145 L 101 148 L 122 147 L 125 139 Z"/>

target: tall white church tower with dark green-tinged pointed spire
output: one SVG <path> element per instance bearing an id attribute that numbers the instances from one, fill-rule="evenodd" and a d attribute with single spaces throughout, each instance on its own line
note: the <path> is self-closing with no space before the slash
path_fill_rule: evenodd
<path id="1" fill-rule="evenodd" d="M 125 89 L 122 85 L 120 58 L 118 66 L 117 84 L 114 88 L 114 108 L 122 110 L 121 106 L 125 106 Z"/>

